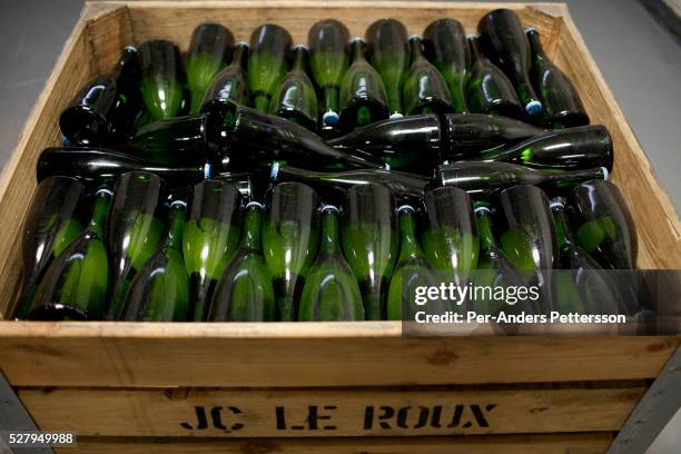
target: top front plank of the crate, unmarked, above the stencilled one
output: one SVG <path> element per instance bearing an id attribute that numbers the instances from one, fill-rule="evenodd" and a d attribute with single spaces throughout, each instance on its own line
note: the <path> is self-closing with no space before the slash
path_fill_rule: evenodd
<path id="1" fill-rule="evenodd" d="M 679 337 L 402 337 L 394 322 L 0 324 L 13 386 L 373 386 L 654 378 Z"/>

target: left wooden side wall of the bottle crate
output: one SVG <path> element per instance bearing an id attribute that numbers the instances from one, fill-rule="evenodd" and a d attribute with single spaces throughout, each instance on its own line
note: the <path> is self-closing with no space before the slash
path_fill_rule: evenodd
<path id="1" fill-rule="evenodd" d="M 59 144 L 58 118 L 91 77 L 90 42 L 81 22 L 65 45 L 51 76 L 0 177 L 0 319 L 10 313 L 21 273 L 21 224 L 36 189 L 36 162 L 42 149 Z"/>

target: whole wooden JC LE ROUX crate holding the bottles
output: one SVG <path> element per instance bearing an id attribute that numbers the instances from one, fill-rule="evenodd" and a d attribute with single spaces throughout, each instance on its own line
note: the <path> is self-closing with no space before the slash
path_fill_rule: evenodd
<path id="1" fill-rule="evenodd" d="M 305 42 L 319 19 L 353 34 L 383 17 L 411 33 L 454 17 L 473 32 L 500 4 L 97 1 L 57 62 L 0 182 L 0 318 L 20 274 L 20 220 L 42 148 L 78 88 L 128 43 L 187 48 L 210 20 L 237 39 L 264 22 Z M 535 26 L 593 122 L 613 138 L 641 268 L 681 268 L 679 219 L 560 3 L 504 3 Z M 679 345 L 673 336 L 403 337 L 398 323 L 166 324 L 0 320 L 0 368 L 42 430 L 81 452 L 599 453 Z M 442 436 L 450 435 L 450 436 Z M 466 436 L 462 436 L 466 435 Z M 63 450 L 73 452 L 73 450 Z"/>

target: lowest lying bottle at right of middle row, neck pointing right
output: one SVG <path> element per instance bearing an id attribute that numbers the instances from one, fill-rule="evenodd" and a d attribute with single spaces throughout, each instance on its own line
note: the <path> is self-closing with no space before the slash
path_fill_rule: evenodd
<path id="1" fill-rule="evenodd" d="M 536 185 L 568 189 L 589 179 L 608 179 L 605 167 L 583 170 L 532 169 L 511 162 L 455 162 L 437 167 L 438 186 L 456 186 L 471 195 L 490 195 L 513 185 Z"/>

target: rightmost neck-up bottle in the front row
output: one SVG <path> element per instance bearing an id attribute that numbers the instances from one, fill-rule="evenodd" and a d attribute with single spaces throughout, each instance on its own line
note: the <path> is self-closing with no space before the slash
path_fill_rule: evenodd
<path id="1" fill-rule="evenodd" d="M 551 200 L 559 247 L 554 275 L 554 300 L 562 314 L 618 314 L 622 298 L 615 282 L 609 279 L 601 266 L 579 245 L 568 220 L 565 200 Z"/>

